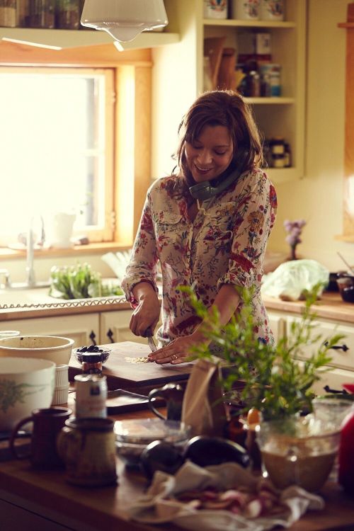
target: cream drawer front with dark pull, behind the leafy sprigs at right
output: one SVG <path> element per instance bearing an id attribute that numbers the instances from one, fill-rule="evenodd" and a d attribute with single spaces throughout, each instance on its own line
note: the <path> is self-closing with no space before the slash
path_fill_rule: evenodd
<path id="1" fill-rule="evenodd" d="M 300 319 L 297 317 L 287 319 L 287 336 L 290 336 L 292 321 L 299 322 Z M 321 343 L 337 333 L 343 334 L 345 337 L 338 341 L 335 348 L 329 350 L 329 355 L 332 357 L 329 365 L 341 369 L 354 370 L 354 326 L 349 324 L 337 325 L 324 319 L 314 321 L 313 337 L 319 336 L 319 339 L 313 345 L 302 347 L 302 355 L 300 357 L 303 359 L 309 358 L 316 351 L 316 348 L 319 348 Z"/>

